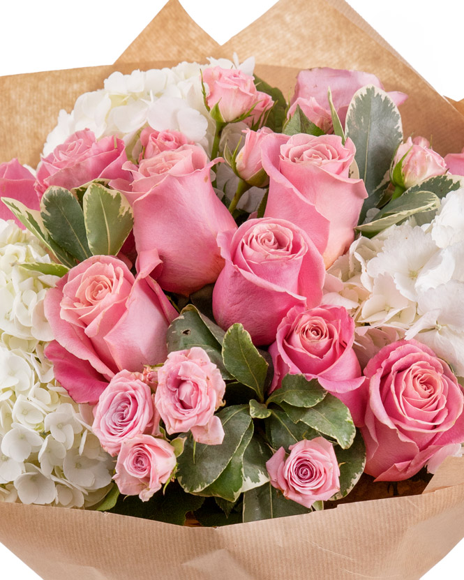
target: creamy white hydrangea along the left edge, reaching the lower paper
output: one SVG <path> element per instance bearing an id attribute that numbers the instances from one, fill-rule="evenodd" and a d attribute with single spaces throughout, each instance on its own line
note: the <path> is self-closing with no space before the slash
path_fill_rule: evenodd
<path id="1" fill-rule="evenodd" d="M 50 257 L 0 220 L 0 501 L 88 507 L 109 491 L 114 460 L 90 431 L 89 408 L 54 380 L 43 299 L 57 278 L 21 266 L 31 262 Z"/>

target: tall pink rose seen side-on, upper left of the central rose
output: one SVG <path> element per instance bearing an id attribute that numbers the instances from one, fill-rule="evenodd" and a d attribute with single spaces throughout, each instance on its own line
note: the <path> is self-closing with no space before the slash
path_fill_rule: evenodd
<path id="1" fill-rule="evenodd" d="M 137 268 L 151 272 L 161 288 L 189 295 L 214 283 L 223 269 L 216 236 L 235 230 L 234 218 L 214 193 L 213 161 L 201 147 L 172 151 L 127 164 L 131 191 Z"/>

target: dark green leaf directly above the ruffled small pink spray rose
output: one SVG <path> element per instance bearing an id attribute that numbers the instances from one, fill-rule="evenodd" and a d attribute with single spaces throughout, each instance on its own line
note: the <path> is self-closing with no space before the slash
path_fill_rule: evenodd
<path id="1" fill-rule="evenodd" d="M 193 304 L 188 304 L 167 329 L 167 352 L 199 346 L 207 352 L 211 362 L 216 364 L 223 379 L 230 380 L 232 376 L 225 369 L 218 341 L 223 336 L 222 329 L 197 311 Z"/>

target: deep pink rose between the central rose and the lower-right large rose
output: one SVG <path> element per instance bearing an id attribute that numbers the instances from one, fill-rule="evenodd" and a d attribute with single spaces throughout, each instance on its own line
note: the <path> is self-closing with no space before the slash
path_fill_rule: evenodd
<path id="1" fill-rule="evenodd" d="M 329 393 L 343 394 L 364 382 L 353 350 L 354 320 L 343 306 L 294 306 L 269 347 L 274 363 L 271 392 L 287 373 L 317 378 Z"/>

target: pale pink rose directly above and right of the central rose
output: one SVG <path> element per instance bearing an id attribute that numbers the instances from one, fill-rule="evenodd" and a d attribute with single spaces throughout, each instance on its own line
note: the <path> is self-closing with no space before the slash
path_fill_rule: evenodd
<path id="1" fill-rule="evenodd" d="M 269 175 L 265 217 L 299 225 L 329 267 L 354 240 L 366 187 L 348 177 L 355 148 L 337 135 L 268 135 L 262 166 Z"/>

